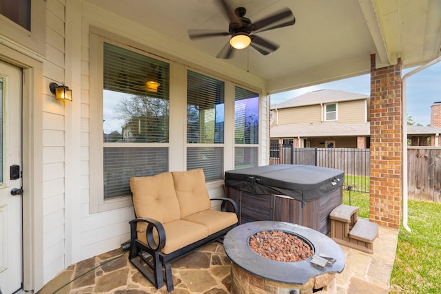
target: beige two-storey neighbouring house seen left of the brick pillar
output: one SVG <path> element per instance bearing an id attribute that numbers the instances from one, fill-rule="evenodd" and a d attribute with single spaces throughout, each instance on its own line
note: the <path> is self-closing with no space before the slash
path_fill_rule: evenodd
<path id="1" fill-rule="evenodd" d="M 271 144 L 369 148 L 370 97 L 318 90 L 271 105 Z"/>

